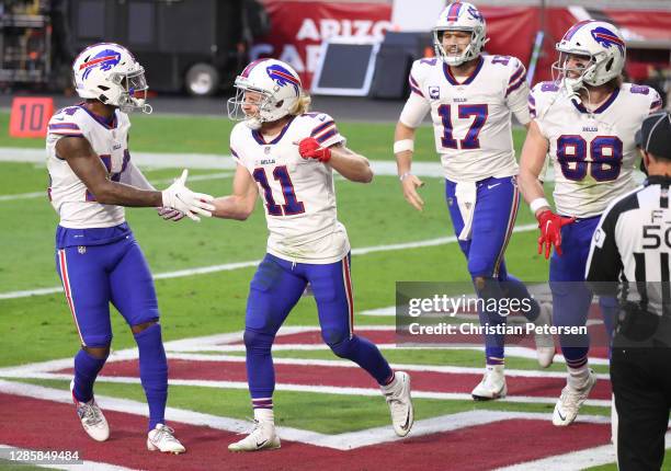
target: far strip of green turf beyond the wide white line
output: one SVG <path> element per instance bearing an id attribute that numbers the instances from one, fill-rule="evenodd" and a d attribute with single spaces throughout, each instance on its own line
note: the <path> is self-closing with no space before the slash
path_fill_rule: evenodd
<path id="1" fill-rule="evenodd" d="M 328 112 L 328 110 L 327 110 Z M 0 147 L 43 148 L 44 139 L 19 139 L 9 136 L 9 112 L 0 113 Z M 221 153 L 229 152 L 228 136 L 234 123 L 227 117 L 213 116 L 130 116 L 133 151 Z M 394 160 L 391 142 L 394 124 L 348 123 L 336 116 L 348 146 L 368 159 Z M 524 129 L 515 129 L 513 141 L 522 148 Z M 422 126 L 417 131 L 414 160 L 436 162 L 433 128 Z"/>

